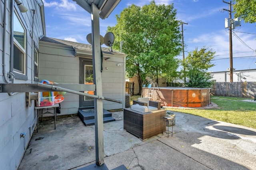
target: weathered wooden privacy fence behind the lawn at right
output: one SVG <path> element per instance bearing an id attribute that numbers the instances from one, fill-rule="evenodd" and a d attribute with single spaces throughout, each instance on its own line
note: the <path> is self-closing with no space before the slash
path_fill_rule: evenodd
<path id="1" fill-rule="evenodd" d="M 214 96 L 254 98 L 256 82 L 215 82 L 211 93 Z"/>

